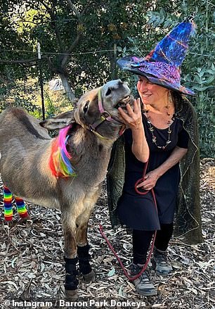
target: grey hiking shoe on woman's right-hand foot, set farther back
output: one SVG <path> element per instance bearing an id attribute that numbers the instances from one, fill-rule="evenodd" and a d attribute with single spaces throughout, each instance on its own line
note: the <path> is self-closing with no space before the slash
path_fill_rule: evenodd
<path id="1" fill-rule="evenodd" d="M 167 259 L 167 251 L 160 251 L 155 248 L 152 264 L 155 266 L 157 275 L 167 276 L 172 272 L 171 264 Z"/>

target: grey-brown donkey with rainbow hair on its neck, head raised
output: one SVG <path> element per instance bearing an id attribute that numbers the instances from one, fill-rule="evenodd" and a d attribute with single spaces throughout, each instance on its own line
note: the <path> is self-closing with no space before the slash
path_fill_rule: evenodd
<path id="1" fill-rule="evenodd" d="M 0 172 L 25 201 L 59 208 L 65 238 L 65 296 L 77 298 L 77 262 L 86 282 L 95 279 L 89 263 L 87 225 L 105 179 L 113 142 L 125 129 L 117 108 L 133 105 L 126 82 L 112 80 L 84 94 L 74 111 L 40 122 L 21 108 L 0 115 Z M 60 129 L 51 138 L 48 130 Z"/>

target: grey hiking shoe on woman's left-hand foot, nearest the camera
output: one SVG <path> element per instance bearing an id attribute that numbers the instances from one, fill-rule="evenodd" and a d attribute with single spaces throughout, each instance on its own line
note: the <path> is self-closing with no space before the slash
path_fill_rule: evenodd
<path id="1" fill-rule="evenodd" d="M 132 263 L 129 266 L 129 270 L 130 270 L 129 271 L 130 276 L 134 277 L 138 275 L 139 272 L 141 272 L 142 267 Z M 135 285 L 138 294 L 144 296 L 157 295 L 157 289 L 155 289 L 154 284 L 152 284 L 152 282 L 150 281 L 146 271 L 143 272 L 143 274 L 140 277 L 133 280 L 132 282 Z"/>

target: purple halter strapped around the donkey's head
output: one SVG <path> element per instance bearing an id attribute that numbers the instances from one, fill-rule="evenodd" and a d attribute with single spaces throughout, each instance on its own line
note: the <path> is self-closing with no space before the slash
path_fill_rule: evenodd
<path id="1" fill-rule="evenodd" d="M 101 139 L 108 139 L 107 137 L 103 137 L 100 133 L 97 132 L 97 128 L 99 125 L 101 125 L 105 120 L 115 123 L 116 125 L 120 125 L 121 127 L 124 126 L 124 123 L 112 118 L 110 113 L 104 110 L 103 108 L 103 101 L 101 98 L 101 89 L 98 90 L 98 109 L 100 111 L 100 119 L 94 122 L 92 125 L 89 125 L 88 129 L 91 130 L 93 133 L 98 135 Z M 122 135 L 124 130 L 119 131 L 119 135 Z"/>

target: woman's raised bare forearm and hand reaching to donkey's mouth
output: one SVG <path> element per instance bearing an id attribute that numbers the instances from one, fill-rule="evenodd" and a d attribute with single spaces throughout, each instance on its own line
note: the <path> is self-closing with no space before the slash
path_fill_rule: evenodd
<path id="1" fill-rule="evenodd" d="M 132 147 L 131 150 L 138 160 L 147 162 L 149 157 L 148 143 L 145 139 L 145 132 L 142 122 L 141 101 L 140 99 L 133 102 L 133 110 L 129 104 L 126 105 L 127 114 L 122 108 L 118 108 L 125 125 L 127 125 L 132 132 Z"/>

